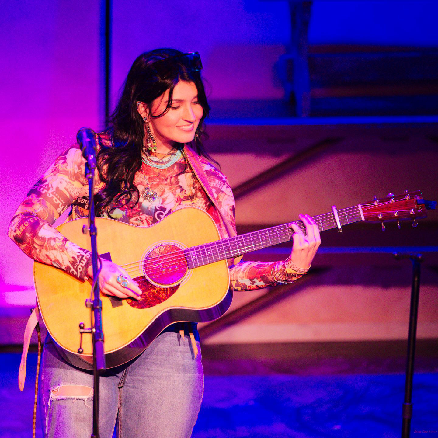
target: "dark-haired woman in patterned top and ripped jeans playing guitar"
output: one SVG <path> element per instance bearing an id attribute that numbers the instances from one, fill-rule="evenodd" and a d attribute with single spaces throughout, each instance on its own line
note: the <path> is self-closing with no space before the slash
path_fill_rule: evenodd
<path id="1" fill-rule="evenodd" d="M 97 134 L 95 205 L 99 215 L 151 225 L 183 206 L 208 212 L 221 238 L 235 235 L 234 200 L 226 177 L 205 158 L 204 120 L 209 106 L 197 53 L 158 49 L 131 67 L 106 131 Z M 193 149 L 192 149 L 193 148 Z M 70 206 L 71 218 L 88 215 L 85 160 L 68 148 L 18 207 L 9 236 L 30 257 L 69 272 L 92 276 L 90 253 L 51 224 Z M 320 244 L 318 227 L 300 215 L 306 236 L 291 224 L 293 250 L 286 261 L 229 260 L 233 290 L 290 283 L 304 275 Z M 188 226 L 195 224 L 187 224 Z M 138 284 L 120 266 L 102 260 L 102 293 L 138 299 Z M 201 404 L 203 373 L 196 325 L 165 329 L 139 357 L 107 370 L 100 379 L 100 433 L 110 437 L 190 436 Z M 92 429 L 92 373 L 78 357 L 46 339 L 40 407 L 44 436 L 88 437 Z"/>

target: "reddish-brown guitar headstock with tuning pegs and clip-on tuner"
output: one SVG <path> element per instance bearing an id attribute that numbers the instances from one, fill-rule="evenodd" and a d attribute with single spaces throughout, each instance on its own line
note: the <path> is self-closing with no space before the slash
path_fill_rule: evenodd
<path id="1" fill-rule="evenodd" d="M 413 226 L 417 226 L 415 219 L 425 218 L 427 209 L 434 209 L 435 201 L 426 201 L 420 191 L 408 192 L 394 196 L 389 193 L 386 198 L 374 199 L 366 204 L 361 204 L 364 219 L 367 222 L 400 221 L 413 219 Z"/>

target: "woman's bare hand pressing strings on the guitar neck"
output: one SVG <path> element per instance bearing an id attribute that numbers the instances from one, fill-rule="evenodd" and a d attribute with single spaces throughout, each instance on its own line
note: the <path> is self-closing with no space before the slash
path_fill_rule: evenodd
<path id="1" fill-rule="evenodd" d="M 314 220 L 309 215 L 299 215 L 301 221 L 306 226 L 306 235 L 300 227 L 295 223 L 290 223 L 289 226 L 295 232 L 293 234 L 293 248 L 289 258 L 286 260 L 286 269 L 288 261 L 293 263 L 297 268 L 307 269 L 310 267 L 316 251 L 321 244 L 319 237 L 319 229 Z"/>

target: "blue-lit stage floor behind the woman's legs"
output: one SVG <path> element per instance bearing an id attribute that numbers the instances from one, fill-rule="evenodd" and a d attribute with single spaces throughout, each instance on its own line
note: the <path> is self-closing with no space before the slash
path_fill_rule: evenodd
<path id="1" fill-rule="evenodd" d="M 32 437 L 36 353 L 29 354 L 22 393 L 18 389 L 19 362 L 19 353 L 0 353 L 2 438 Z M 204 399 L 192 437 L 400 436 L 404 374 L 388 372 L 397 370 L 399 361 L 395 368 L 386 367 L 385 374 L 369 372 L 370 367 L 346 374 L 354 367 L 341 367 L 344 371 L 340 371 L 339 367 L 324 367 L 324 363 L 323 360 L 318 367 L 312 367 L 311 372 L 307 368 L 292 374 L 272 368 L 265 373 L 266 367 L 240 364 L 233 374 L 229 367 L 212 366 L 206 357 Z M 437 429 L 438 372 L 429 363 L 419 366 L 414 375 L 411 436 L 438 436 Z M 39 417 L 37 437 L 42 437 Z"/>

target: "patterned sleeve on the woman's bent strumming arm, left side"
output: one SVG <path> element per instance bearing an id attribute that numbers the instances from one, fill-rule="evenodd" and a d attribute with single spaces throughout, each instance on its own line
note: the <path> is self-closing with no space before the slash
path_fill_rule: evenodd
<path id="1" fill-rule="evenodd" d="M 61 154 L 31 188 L 8 230 L 8 236 L 26 255 L 79 279 L 86 277 L 90 252 L 67 240 L 52 224 L 88 184 L 84 173 L 85 160 L 75 145 Z"/>

